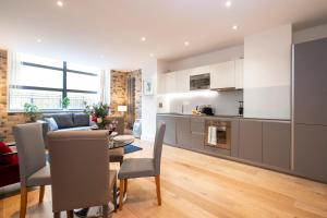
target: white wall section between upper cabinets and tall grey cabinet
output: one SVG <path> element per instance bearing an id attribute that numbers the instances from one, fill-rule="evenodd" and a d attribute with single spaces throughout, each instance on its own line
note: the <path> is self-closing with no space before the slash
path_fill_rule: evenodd
<path id="1" fill-rule="evenodd" d="M 244 39 L 244 117 L 290 119 L 292 26 Z"/>

